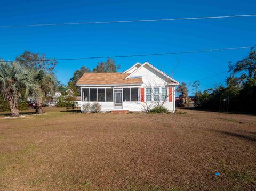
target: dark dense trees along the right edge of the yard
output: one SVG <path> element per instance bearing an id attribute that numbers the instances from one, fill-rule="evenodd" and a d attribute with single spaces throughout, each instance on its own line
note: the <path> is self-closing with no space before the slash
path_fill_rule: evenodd
<path id="1" fill-rule="evenodd" d="M 229 111 L 255 112 L 256 108 L 256 51 L 253 47 L 246 57 L 236 63 L 229 62 L 229 77 L 225 85 L 196 91 L 194 105 L 199 109 L 219 110 L 228 102 Z M 197 82 L 198 83 L 198 82 Z M 195 85 L 194 87 L 198 87 Z"/>

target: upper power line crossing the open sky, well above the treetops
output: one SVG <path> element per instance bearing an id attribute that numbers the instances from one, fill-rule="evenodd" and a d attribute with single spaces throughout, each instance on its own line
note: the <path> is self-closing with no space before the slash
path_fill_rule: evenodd
<path id="1" fill-rule="evenodd" d="M 194 18 L 173 18 L 173 19 L 128 20 L 128 21 L 100 21 L 100 22 L 75 22 L 75 23 L 24 24 L 24 25 L 0 26 L 0 28 L 65 26 L 65 25 L 79 25 L 79 24 L 110 24 L 110 23 L 130 23 L 130 22 L 156 22 L 156 21 L 197 20 L 197 19 L 223 19 L 223 18 L 239 18 L 239 17 L 249 17 L 249 16 L 256 16 L 256 14 L 228 15 L 228 16 L 204 16 L 204 17 L 194 17 Z"/>

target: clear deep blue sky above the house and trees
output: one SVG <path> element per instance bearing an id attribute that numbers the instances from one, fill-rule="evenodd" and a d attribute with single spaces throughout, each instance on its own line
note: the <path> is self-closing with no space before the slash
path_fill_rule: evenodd
<path id="1" fill-rule="evenodd" d="M 0 25 L 97 22 L 256 14 L 256 1 L 3 1 Z M 13 60 L 25 50 L 47 57 L 91 57 L 194 51 L 253 46 L 256 17 L 182 20 L 79 26 L 0 28 L 0 57 Z M 179 82 L 195 81 L 228 70 L 228 61 L 246 56 L 248 49 L 195 54 L 115 59 L 120 72 L 136 62 L 155 65 Z M 58 79 L 67 84 L 82 65 L 94 68 L 101 59 L 59 61 Z M 207 89 L 227 74 L 201 81 Z M 189 87 L 189 93 L 192 90 Z"/>

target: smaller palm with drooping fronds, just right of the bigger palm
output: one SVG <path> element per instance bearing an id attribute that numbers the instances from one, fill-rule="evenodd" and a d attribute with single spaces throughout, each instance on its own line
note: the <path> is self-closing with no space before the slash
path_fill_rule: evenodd
<path id="1" fill-rule="evenodd" d="M 52 96 L 57 89 L 57 80 L 53 74 L 46 72 L 45 70 L 39 70 L 37 72 L 35 80 L 37 81 L 39 88 L 42 91 L 42 95 L 36 97 L 36 113 L 43 113 L 43 103 L 45 99 Z"/>

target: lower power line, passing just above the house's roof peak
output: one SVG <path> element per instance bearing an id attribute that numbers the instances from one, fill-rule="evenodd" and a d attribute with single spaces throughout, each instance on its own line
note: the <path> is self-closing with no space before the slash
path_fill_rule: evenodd
<path id="1" fill-rule="evenodd" d="M 230 51 L 235 49 L 247 49 L 251 46 L 244 47 L 233 47 L 233 48 L 217 48 L 217 49 L 204 49 L 201 51 L 184 51 L 184 52 L 170 52 L 170 53 L 155 53 L 155 54 L 137 54 L 137 55 L 123 55 L 123 56 L 98 56 L 98 57 L 77 57 L 77 58 L 60 58 L 60 59 L 46 59 L 46 60 L 22 60 L 18 62 L 27 61 L 57 61 L 57 60 L 89 60 L 89 59 L 115 59 L 120 57 L 140 57 L 140 56 L 159 56 L 159 55 L 172 55 L 172 54 L 190 54 L 190 53 L 203 53 L 203 52 L 214 52 L 214 51 Z M 15 62 L 15 61 L 0 61 L 0 62 Z"/>

